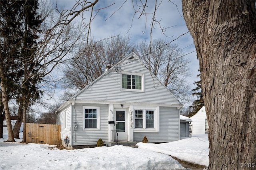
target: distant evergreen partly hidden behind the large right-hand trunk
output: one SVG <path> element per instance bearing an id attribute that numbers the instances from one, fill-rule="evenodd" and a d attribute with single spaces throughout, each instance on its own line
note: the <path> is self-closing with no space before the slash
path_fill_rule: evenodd
<path id="1" fill-rule="evenodd" d="M 200 74 L 198 74 L 196 77 L 200 77 Z M 192 117 L 193 115 L 195 115 L 204 106 L 201 79 L 199 81 L 195 81 L 194 85 L 196 85 L 196 88 L 192 89 L 192 95 L 196 96 L 197 99 L 193 101 L 192 105 L 190 106 L 190 112 L 188 114 L 188 117 Z"/>

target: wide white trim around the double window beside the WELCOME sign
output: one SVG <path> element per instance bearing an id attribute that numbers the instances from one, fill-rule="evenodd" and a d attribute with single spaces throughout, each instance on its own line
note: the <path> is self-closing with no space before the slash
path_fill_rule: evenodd
<path id="1" fill-rule="evenodd" d="M 135 110 L 142 110 L 143 111 L 143 127 L 136 128 L 135 127 Z M 154 128 L 146 128 L 146 111 L 154 111 Z M 156 107 L 134 107 L 134 132 L 159 132 L 160 131 L 160 117 L 159 117 L 159 106 Z"/>

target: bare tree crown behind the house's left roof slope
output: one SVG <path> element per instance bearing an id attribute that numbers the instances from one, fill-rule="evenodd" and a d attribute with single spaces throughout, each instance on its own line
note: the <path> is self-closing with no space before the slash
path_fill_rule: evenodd
<path id="1" fill-rule="evenodd" d="M 87 46 L 82 47 L 84 48 L 80 49 L 75 59 L 70 60 L 63 70 L 63 87 L 72 89 L 66 91 L 68 97 L 102 75 L 106 66 L 113 66 L 134 50 L 129 36 L 115 36 L 102 41 L 91 40 Z"/>

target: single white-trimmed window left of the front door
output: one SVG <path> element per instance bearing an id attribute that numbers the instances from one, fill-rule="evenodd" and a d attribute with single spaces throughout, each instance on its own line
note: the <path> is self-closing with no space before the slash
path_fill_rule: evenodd
<path id="1" fill-rule="evenodd" d="M 83 107 L 84 130 L 100 129 L 100 107 Z"/>

